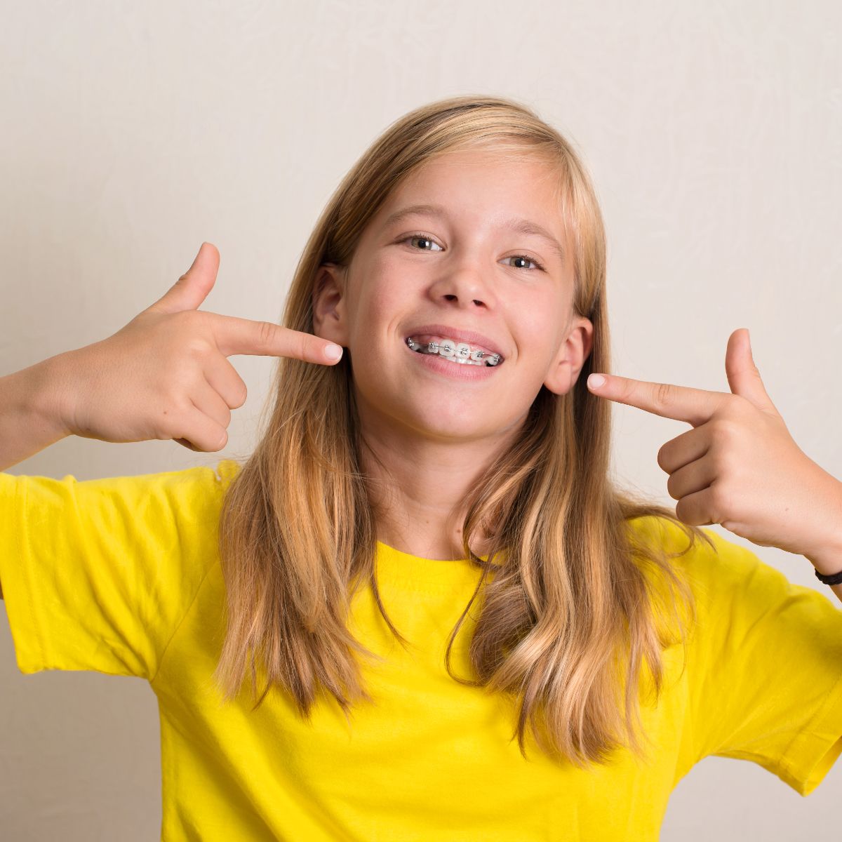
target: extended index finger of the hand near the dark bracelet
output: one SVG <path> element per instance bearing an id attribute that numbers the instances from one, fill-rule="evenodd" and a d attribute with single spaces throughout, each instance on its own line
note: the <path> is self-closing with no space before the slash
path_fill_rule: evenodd
<path id="1" fill-rule="evenodd" d="M 651 383 L 616 375 L 600 377 L 605 378 L 601 386 L 592 382 L 592 379 L 596 380 L 594 375 L 588 378 L 589 389 L 600 397 L 645 409 L 663 418 L 685 421 L 694 427 L 709 421 L 721 406 L 722 398 L 727 397 L 723 392 L 708 392 L 689 386 L 674 386 L 672 383 Z"/>

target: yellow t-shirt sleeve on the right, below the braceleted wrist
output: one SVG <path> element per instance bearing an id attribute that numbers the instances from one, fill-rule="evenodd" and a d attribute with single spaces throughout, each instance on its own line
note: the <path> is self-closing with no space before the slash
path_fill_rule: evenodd
<path id="1" fill-rule="evenodd" d="M 674 562 L 699 610 L 688 656 L 695 759 L 752 760 L 807 796 L 842 754 L 842 608 L 704 531 L 717 552 L 697 541 Z"/>

